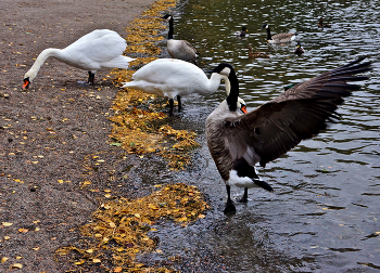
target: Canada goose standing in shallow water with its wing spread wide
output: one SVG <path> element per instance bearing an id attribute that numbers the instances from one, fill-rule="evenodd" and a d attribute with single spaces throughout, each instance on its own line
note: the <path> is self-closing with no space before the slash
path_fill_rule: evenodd
<path id="1" fill-rule="evenodd" d="M 239 82 L 233 68 L 226 64 L 230 92 L 206 119 L 206 140 L 215 165 L 226 182 L 225 212 L 235 212 L 230 186 L 244 187 L 241 202 L 248 200 L 249 187 L 271 186 L 258 179 L 254 165 L 262 167 L 326 129 L 326 120 L 339 117 L 335 112 L 343 96 L 358 90 L 347 81 L 366 80 L 354 76 L 370 70 L 364 57 L 324 73 L 284 91 L 274 100 L 242 115 L 238 113 Z"/>

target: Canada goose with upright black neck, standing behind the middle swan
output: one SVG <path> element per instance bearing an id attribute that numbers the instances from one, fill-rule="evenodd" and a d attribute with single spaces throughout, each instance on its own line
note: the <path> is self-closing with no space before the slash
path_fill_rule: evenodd
<path id="1" fill-rule="evenodd" d="M 173 16 L 166 14 L 162 18 L 169 22 L 169 32 L 167 35 L 167 52 L 170 57 L 183 60 L 186 62 L 191 62 L 197 64 L 197 55 L 200 53 L 191 46 L 190 42 L 186 40 L 175 40 L 173 38 Z"/>

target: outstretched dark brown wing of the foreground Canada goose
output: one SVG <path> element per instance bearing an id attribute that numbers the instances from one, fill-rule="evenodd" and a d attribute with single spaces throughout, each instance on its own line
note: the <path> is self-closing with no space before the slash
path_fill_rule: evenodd
<path id="1" fill-rule="evenodd" d="M 335 109 L 343 98 L 360 87 L 349 81 L 370 70 L 364 57 L 299 83 L 276 99 L 225 122 L 225 142 L 232 160 L 243 157 L 250 165 L 265 166 L 326 129 L 326 121 L 339 117 Z"/>

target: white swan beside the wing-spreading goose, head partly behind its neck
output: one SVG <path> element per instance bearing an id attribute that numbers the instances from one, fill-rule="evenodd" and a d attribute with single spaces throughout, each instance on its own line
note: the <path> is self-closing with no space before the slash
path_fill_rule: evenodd
<path id="1" fill-rule="evenodd" d="M 197 65 L 177 58 L 157 58 L 138 69 L 132 75 L 132 81 L 123 82 L 123 88 L 135 88 L 147 93 L 169 99 L 173 116 L 174 98 L 178 100 L 178 112 L 181 110 L 182 95 L 191 93 L 210 94 L 215 92 L 220 80 L 228 78 L 214 68 L 208 79 Z"/>

